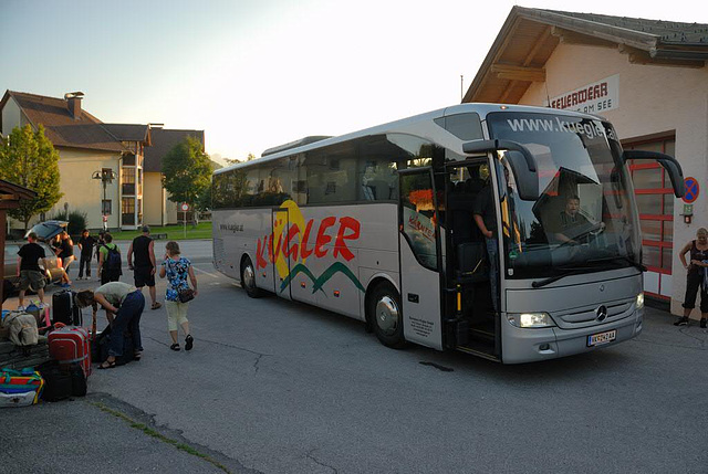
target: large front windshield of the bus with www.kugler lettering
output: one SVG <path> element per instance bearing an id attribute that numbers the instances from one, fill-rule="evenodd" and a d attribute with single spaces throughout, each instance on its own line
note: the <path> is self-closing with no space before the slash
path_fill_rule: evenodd
<path id="1" fill-rule="evenodd" d="M 631 178 L 612 126 L 554 114 L 488 116 L 493 138 L 535 158 L 540 197 L 519 199 L 500 151 L 498 172 L 508 278 L 560 277 L 641 266 Z"/>

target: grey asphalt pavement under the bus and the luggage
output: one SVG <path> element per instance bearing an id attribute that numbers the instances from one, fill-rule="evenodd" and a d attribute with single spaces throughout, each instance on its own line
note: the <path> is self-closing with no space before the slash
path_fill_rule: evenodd
<path id="1" fill-rule="evenodd" d="M 535 365 L 392 350 L 360 322 L 248 298 L 208 245 L 184 246 L 194 350 L 146 310 L 142 361 L 94 371 L 84 399 L 0 411 L 2 472 L 708 473 L 695 322 L 647 308 L 638 338 Z"/>

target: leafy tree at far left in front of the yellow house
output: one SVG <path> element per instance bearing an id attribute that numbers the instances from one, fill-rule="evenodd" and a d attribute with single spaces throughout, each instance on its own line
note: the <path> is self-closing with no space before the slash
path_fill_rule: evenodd
<path id="1" fill-rule="evenodd" d="M 14 127 L 8 140 L 1 140 L 0 178 L 37 192 L 37 198 L 8 211 L 24 223 L 25 231 L 32 217 L 49 211 L 64 196 L 59 186 L 59 151 L 44 136 L 42 125 L 37 131 L 29 124 Z"/>

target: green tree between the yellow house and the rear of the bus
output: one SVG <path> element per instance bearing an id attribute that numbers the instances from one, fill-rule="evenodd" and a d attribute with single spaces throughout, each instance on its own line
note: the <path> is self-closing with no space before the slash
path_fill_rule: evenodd
<path id="1" fill-rule="evenodd" d="M 177 144 L 163 159 L 163 175 L 170 201 L 198 207 L 211 188 L 211 160 L 201 141 L 187 137 Z"/>

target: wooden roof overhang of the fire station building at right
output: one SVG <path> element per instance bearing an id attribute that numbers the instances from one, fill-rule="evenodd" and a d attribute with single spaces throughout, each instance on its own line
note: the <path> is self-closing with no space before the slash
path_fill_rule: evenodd
<path id="1" fill-rule="evenodd" d="M 513 7 L 462 102 L 517 104 L 560 43 L 616 49 L 635 64 L 705 67 L 708 25 Z"/>

